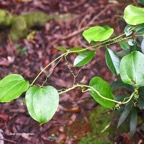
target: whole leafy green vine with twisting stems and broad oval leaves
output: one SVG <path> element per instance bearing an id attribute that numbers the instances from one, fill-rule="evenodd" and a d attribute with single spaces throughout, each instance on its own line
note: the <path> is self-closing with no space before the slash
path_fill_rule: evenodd
<path id="1" fill-rule="evenodd" d="M 137 127 L 138 112 L 144 109 L 144 8 L 128 5 L 124 10 L 123 19 L 127 26 L 118 36 L 113 34 L 114 29 L 109 26 L 93 26 L 82 34 L 90 43 L 89 47 L 58 47 L 62 54 L 40 71 L 31 84 L 19 74 L 4 77 L 0 80 L 0 102 L 10 102 L 26 92 L 25 104 L 30 116 L 44 124 L 51 120 L 57 111 L 59 95 L 79 87 L 82 92 L 89 92 L 100 105 L 108 109 L 120 109 L 118 127 L 129 117 L 130 132 L 133 135 Z M 121 50 L 111 50 L 111 45 L 114 44 L 118 44 Z M 93 77 L 89 85 L 74 82 L 72 87 L 62 90 L 50 85 L 35 85 L 47 68 L 54 65 L 54 69 L 62 59 L 68 63 L 67 57 L 70 54 L 77 54 L 73 65 L 81 70 L 82 66 L 94 58 L 97 50 L 103 47 L 106 48 L 106 64 L 116 75 L 112 85 L 98 76 Z M 70 66 L 68 68 L 75 80 L 76 75 Z M 118 95 L 117 89 L 124 93 Z"/>

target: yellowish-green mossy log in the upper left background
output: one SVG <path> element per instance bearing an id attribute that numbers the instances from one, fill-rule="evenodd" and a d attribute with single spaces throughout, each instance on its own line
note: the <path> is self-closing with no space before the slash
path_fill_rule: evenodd
<path id="1" fill-rule="evenodd" d="M 22 15 L 12 15 L 7 10 L 0 9 L 0 26 L 9 28 L 8 37 L 12 41 L 18 41 L 25 38 L 29 29 L 33 27 L 42 27 L 51 20 L 53 15 L 44 12 L 32 12 Z"/>

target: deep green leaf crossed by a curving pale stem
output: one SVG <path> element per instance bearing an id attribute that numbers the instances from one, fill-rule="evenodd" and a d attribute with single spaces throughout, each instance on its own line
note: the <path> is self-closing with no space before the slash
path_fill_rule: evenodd
<path id="1" fill-rule="evenodd" d="M 94 77 L 91 79 L 90 84 L 92 88 L 89 89 L 92 97 L 102 106 L 112 108 L 115 103 L 107 99 L 113 100 L 114 95 L 112 94 L 110 85 L 101 79 L 100 77 Z"/>

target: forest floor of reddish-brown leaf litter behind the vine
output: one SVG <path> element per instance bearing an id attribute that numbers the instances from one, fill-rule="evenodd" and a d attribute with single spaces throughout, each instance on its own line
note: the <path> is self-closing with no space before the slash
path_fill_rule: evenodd
<path id="1" fill-rule="evenodd" d="M 43 11 L 47 14 L 67 14 L 67 18 L 51 20 L 39 30 L 33 39 L 27 37 L 19 42 L 1 40 L 0 78 L 10 73 L 21 74 L 32 82 L 43 69 L 61 52 L 58 46 L 65 48 L 87 47 L 82 31 L 90 26 L 109 25 L 115 34 L 122 33 L 125 23 L 122 15 L 124 8 L 133 1 L 117 2 L 108 0 L 4 0 L 0 8 L 12 14 Z M 30 32 L 32 32 L 31 30 Z M 118 50 L 118 45 L 111 46 Z M 76 55 L 68 57 L 69 67 L 77 74 L 79 69 L 72 66 Z M 53 73 L 46 79 L 51 69 L 45 70 L 36 84 L 53 85 L 57 89 L 71 87 L 73 75 L 69 72 L 65 60 L 61 60 Z M 95 58 L 83 67 L 76 83 L 88 84 L 94 76 L 100 76 L 112 82 L 115 76 L 105 63 L 105 48 L 97 51 Z M 0 105 L 0 144 L 142 144 L 144 137 L 140 132 L 130 139 L 128 131 L 119 129 L 105 130 L 111 122 L 112 113 L 100 107 L 88 93 L 72 90 L 60 96 L 58 110 L 51 121 L 39 125 L 28 114 L 24 104 L 24 95 L 10 103 Z M 113 122 L 117 123 L 113 119 Z"/>

